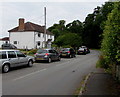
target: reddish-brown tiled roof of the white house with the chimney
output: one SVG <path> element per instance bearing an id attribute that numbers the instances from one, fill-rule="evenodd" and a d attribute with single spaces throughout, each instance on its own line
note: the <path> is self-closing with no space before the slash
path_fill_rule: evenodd
<path id="1" fill-rule="evenodd" d="M 44 33 L 44 27 L 40 26 L 38 24 L 27 22 L 27 23 L 25 23 L 25 28 L 23 31 L 35 31 L 35 32 Z M 18 30 L 18 27 L 15 27 L 15 28 L 9 30 L 8 32 L 19 32 L 19 30 Z M 46 33 L 52 34 L 52 32 L 49 32 L 48 30 L 46 30 Z"/>

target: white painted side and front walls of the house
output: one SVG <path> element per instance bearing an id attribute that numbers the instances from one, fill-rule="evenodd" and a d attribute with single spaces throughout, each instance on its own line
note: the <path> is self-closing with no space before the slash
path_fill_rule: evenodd
<path id="1" fill-rule="evenodd" d="M 18 49 L 34 49 L 42 48 L 44 45 L 44 34 L 38 32 L 10 32 L 10 43 L 15 45 Z M 52 39 L 54 41 L 54 35 L 46 35 L 46 41 Z M 14 41 L 17 41 L 17 44 L 14 44 Z M 40 45 L 38 46 L 38 42 Z"/>

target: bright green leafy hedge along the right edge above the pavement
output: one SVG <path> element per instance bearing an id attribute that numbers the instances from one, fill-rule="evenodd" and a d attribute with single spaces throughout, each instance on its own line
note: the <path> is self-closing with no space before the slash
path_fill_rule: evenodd
<path id="1" fill-rule="evenodd" d="M 120 64 L 120 2 L 114 4 L 108 15 L 103 36 L 101 47 L 106 62 Z"/>

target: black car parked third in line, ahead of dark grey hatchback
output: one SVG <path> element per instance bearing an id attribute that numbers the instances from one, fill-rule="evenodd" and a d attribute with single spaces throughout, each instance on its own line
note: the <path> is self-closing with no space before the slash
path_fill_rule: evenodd
<path id="1" fill-rule="evenodd" d="M 73 57 L 76 57 L 75 55 L 76 55 L 76 53 L 75 53 L 75 50 L 73 48 L 63 48 L 60 51 L 61 57 L 73 58 Z"/>

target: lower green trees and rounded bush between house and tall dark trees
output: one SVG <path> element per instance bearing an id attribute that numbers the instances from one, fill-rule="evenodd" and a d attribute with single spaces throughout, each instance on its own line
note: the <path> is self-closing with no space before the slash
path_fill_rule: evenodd
<path id="1" fill-rule="evenodd" d="M 54 24 L 49 31 L 55 35 L 54 45 L 62 47 L 75 47 L 82 45 L 83 24 L 79 20 L 74 20 L 65 26 L 65 21 L 60 20 L 59 24 Z"/>

